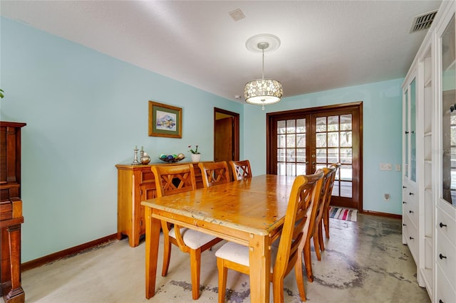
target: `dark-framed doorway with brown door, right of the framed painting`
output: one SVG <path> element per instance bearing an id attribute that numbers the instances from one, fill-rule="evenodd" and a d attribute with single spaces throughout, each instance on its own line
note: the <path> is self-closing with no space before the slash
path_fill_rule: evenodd
<path id="1" fill-rule="evenodd" d="M 239 160 L 239 114 L 214 107 L 214 161 Z"/>

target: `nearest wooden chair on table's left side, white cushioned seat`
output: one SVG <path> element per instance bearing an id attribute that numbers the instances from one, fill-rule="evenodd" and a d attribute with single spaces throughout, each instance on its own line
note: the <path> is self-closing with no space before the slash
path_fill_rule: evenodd
<path id="1" fill-rule="evenodd" d="M 152 166 L 157 187 L 157 197 L 168 196 L 183 191 L 196 189 L 195 170 L 192 164 Z M 222 239 L 200 233 L 190 228 L 182 228 L 161 221 L 163 231 L 163 267 L 162 277 L 165 277 L 170 266 L 171 243 L 182 252 L 190 254 L 190 269 L 192 275 L 192 298 L 199 298 L 199 275 L 201 272 L 201 253 L 212 248 Z"/>

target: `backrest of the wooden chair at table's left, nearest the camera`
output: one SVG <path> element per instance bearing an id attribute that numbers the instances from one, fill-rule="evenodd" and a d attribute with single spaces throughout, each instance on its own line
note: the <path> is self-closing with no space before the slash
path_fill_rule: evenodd
<path id="1" fill-rule="evenodd" d="M 152 166 L 157 196 L 167 196 L 197 188 L 192 164 Z"/>

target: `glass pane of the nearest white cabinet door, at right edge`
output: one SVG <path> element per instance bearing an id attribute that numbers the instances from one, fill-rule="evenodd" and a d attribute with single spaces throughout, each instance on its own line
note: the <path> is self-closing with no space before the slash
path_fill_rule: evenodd
<path id="1" fill-rule="evenodd" d="M 454 15 L 440 38 L 442 51 L 442 198 L 456 206 L 456 39 Z"/>

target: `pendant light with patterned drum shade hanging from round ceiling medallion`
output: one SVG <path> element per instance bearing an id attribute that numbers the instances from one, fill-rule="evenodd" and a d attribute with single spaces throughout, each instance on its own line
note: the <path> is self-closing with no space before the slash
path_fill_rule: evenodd
<path id="1" fill-rule="evenodd" d="M 264 52 L 279 48 L 280 40 L 274 35 L 262 33 L 247 40 L 246 47 L 251 51 L 261 51 L 263 55 L 263 73 L 261 79 L 252 80 L 244 87 L 244 97 L 247 103 L 253 105 L 271 105 L 280 101 L 284 90 L 277 80 L 264 78 Z"/>

